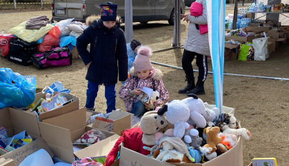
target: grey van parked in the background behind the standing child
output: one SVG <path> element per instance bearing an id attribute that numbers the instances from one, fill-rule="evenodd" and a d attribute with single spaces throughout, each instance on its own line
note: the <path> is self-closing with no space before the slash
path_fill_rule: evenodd
<path id="1" fill-rule="evenodd" d="M 86 17 L 100 14 L 99 3 L 108 0 L 52 0 L 52 21 L 74 18 L 75 21 L 85 22 Z M 117 14 L 124 21 L 125 0 L 110 0 L 117 3 Z M 185 14 L 186 6 L 181 2 L 181 14 Z M 175 0 L 134 0 L 132 1 L 133 22 L 148 23 L 148 21 L 168 20 L 174 25 Z"/>

